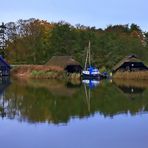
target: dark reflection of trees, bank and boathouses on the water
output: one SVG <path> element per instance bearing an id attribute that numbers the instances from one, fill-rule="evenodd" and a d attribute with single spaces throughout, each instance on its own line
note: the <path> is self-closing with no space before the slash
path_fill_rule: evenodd
<path id="1" fill-rule="evenodd" d="M 104 117 L 114 117 L 148 111 L 148 86 L 144 82 L 98 83 L 96 87 L 55 80 L 13 80 L 9 87 L 3 87 L 2 83 L 0 88 L 5 91 L 1 89 L 0 115 L 29 123 L 59 124 L 96 112 Z"/>

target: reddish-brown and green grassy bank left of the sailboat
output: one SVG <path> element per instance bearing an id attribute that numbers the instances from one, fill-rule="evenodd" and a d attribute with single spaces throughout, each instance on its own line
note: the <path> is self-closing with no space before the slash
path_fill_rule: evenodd
<path id="1" fill-rule="evenodd" d="M 22 79 L 80 79 L 78 73 L 66 73 L 62 68 L 47 65 L 14 65 L 11 75 Z"/>

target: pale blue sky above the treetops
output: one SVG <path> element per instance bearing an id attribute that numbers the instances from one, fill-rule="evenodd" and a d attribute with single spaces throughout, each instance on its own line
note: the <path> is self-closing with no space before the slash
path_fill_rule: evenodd
<path id="1" fill-rule="evenodd" d="M 135 23 L 148 31 L 148 0 L 0 0 L 0 23 L 36 18 L 106 28 Z"/>

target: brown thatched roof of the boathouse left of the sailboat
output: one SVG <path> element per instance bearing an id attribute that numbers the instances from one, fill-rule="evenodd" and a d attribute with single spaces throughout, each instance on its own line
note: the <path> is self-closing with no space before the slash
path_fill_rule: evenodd
<path id="1" fill-rule="evenodd" d="M 71 56 L 53 56 L 46 65 L 58 66 L 65 69 L 68 65 L 80 65 L 80 63 Z"/>

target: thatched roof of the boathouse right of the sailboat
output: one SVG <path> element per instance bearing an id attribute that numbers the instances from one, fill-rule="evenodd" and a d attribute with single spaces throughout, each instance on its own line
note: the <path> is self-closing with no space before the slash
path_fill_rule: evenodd
<path id="1" fill-rule="evenodd" d="M 117 63 L 114 67 L 113 67 L 113 71 L 117 70 L 122 64 L 124 64 L 125 62 L 142 62 L 140 59 L 138 59 L 138 56 L 136 55 L 129 55 L 126 56 L 124 59 L 122 59 L 119 63 Z"/>

